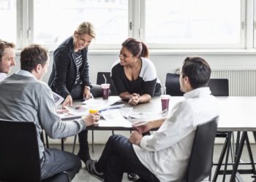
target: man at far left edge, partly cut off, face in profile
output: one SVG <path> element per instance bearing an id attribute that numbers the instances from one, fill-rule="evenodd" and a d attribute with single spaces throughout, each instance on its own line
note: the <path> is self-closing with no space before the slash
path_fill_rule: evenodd
<path id="1" fill-rule="evenodd" d="M 0 81 L 7 77 L 15 64 L 15 44 L 0 39 Z"/>

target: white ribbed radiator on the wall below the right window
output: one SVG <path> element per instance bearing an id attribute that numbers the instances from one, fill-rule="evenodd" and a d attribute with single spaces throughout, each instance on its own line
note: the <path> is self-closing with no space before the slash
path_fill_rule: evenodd
<path id="1" fill-rule="evenodd" d="M 211 79 L 228 79 L 230 96 L 256 96 L 256 70 L 217 70 Z"/>

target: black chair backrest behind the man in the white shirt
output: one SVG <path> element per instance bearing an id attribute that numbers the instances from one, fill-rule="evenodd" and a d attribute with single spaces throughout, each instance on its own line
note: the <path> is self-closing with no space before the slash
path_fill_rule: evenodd
<path id="1" fill-rule="evenodd" d="M 197 126 L 189 159 L 187 182 L 203 181 L 211 174 L 218 117 Z"/>

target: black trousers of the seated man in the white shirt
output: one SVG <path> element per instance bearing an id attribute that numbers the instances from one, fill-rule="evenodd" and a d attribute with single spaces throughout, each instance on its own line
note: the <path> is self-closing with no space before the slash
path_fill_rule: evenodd
<path id="1" fill-rule="evenodd" d="M 144 181 L 159 182 L 138 159 L 132 143 L 121 135 L 112 135 L 105 145 L 96 170 L 105 174 L 106 182 L 122 181 L 124 173 L 136 173 Z"/>

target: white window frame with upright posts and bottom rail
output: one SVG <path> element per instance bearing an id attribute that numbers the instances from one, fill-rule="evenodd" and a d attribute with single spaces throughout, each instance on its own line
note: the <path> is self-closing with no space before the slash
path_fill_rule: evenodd
<path id="1" fill-rule="evenodd" d="M 34 42 L 34 0 L 17 1 L 17 43 L 21 49 Z M 145 41 L 146 0 L 129 0 L 128 36 Z M 152 50 L 252 50 L 256 48 L 256 0 L 241 0 L 241 41 L 240 44 L 148 44 Z M 97 40 L 96 40 L 97 42 Z M 147 44 L 147 42 L 146 42 Z M 58 45 L 43 44 L 54 49 Z M 94 44 L 91 50 L 119 50 L 120 44 Z"/>

